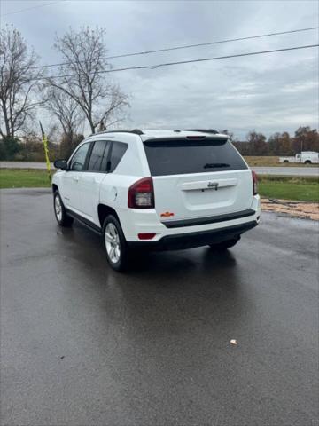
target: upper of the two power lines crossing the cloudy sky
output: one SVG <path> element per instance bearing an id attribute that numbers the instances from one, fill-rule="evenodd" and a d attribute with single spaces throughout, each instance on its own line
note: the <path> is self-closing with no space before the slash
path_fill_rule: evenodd
<path id="1" fill-rule="evenodd" d="M 190 48 L 193 48 L 193 47 L 209 46 L 209 45 L 213 45 L 213 44 L 252 40 L 254 38 L 270 37 L 270 36 L 282 36 L 284 34 L 300 33 L 300 32 L 304 32 L 304 31 L 311 31 L 311 30 L 318 29 L 318 28 L 319 27 L 299 28 L 299 29 L 292 29 L 292 30 L 289 30 L 289 31 L 280 31 L 280 32 L 275 32 L 275 33 L 260 34 L 258 36 L 229 38 L 229 39 L 226 39 L 226 40 L 217 40 L 215 42 L 207 42 L 207 43 L 185 44 L 183 46 L 168 47 L 168 48 L 165 48 L 165 49 L 156 49 L 156 50 L 153 50 L 153 51 L 136 51 L 136 52 L 133 52 L 133 53 L 123 53 L 123 54 L 120 54 L 120 55 L 108 56 L 105 59 L 128 58 L 130 56 L 148 55 L 150 53 L 159 53 L 159 52 L 163 52 L 163 51 L 177 51 L 177 50 L 181 50 L 181 49 L 190 49 Z M 70 64 L 70 62 L 61 62 L 61 63 L 58 63 L 58 64 L 50 64 L 50 65 L 39 65 L 39 66 L 34 67 L 34 68 L 58 67 L 58 66 L 67 65 L 67 64 Z"/>

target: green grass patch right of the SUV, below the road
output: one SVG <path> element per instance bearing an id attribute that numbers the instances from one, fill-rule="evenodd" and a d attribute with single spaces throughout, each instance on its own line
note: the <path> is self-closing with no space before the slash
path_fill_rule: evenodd
<path id="1" fill-rule="evenodd" d="M 258 180 L 261 197 L 319 202 L 319 180 L 316 177 L 259 175 Z"/>

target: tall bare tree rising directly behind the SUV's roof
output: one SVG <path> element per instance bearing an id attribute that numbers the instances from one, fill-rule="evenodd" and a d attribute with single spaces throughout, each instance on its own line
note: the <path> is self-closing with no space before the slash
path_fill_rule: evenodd
<path id="1" fill-rule="evenodd" d="M 59 77 L 48 82 L 81 107 L 92 133 L 121 121 L 129 106 L 128 96 L 105 72 L 111 69 L 106 59 L 105 29 L 70 29 L 65 36 L 57 37 L 54 47 L 64 63 L 58 67 Z"/>

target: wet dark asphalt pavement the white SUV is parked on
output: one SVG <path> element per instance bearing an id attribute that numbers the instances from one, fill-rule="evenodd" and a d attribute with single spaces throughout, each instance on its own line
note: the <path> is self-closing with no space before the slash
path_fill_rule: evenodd
<path id="1" fill-rule="evenodd" d="M 264 213 L 227 254 L 118 274 L 48 190 L 0 201 L 1 424 L 318 424 L 318 223 Z"/>

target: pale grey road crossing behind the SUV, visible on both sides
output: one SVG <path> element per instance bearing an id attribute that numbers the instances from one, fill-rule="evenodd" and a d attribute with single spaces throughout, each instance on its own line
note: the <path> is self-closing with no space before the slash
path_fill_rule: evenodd
<path id="1" fill-rule="evenodd" d="M 46 169 L 45 162 L 0 162 L 0 169 Z M 51 168 L 54 169 L 53 164 Z M 261 175 L 287 176 L 316 176 L 319 177 L 319 167 L 252 167 Z"/>

